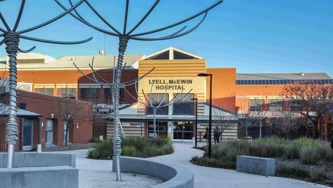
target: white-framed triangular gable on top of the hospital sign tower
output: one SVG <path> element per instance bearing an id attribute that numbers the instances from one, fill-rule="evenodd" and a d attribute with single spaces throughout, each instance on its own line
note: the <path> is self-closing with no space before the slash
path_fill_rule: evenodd
<path id="1" fill-rule="evenodd" d="M 152 60 L 156 57 L 159 57 L 159 55 L 164 55 L 163 60 L 174 60 L 174 59 L 180 60 L 181 57 L 177 58 L 177 56 L 179 55 L 183 55 L 183 57 L 185 57 L 184 59 L 203 59 L 203 57 L 200 57 L 199 55 L 170 46 L 168 48 L 147 55 L 141 58 L 140 60 Z"/>

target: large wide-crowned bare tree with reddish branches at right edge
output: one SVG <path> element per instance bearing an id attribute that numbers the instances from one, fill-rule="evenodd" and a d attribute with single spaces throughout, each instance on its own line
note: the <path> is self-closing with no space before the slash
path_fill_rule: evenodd
<path id="1" fill-rule="evenodd" d="M 329 104 L 333 101 L 333 85 L 328 84 L 295 84 L 283 87 L 281 95 L 289 102 L 299 104 L 300 114 L 313 121 L 313 138 L 316 137 L 317 125 L 320 125 L 319 135 L 323 135 L 324 116 L 329 111 Z M 308 135 L 307 126 L 307 135 Z"/>

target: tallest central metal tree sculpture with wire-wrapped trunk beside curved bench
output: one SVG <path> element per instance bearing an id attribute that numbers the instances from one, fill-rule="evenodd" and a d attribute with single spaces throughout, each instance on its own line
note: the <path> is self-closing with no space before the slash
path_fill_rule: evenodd
<path id="1" fill-rule="evenodd" d="M 69 0 L 69 3 L 71 5 L 70 9 L 67 9 L 63 4 L 61 4 L 58 0 L 54 0 L 61 8 L 63 8 L 64 10 L 70 10 L 73 9 L 73 3 L 71 0 Z M 123 61 L 123 55 L 126 51 L 127 48 L 127 44 L 129 42 L 129 40 L 138 40 L 138 41 L 159 41 L 159 40 L 168 40 L 168 39 L 174 39 L 176 37 L 180 37 L 183 36 L 185 34 L 188 34 L 192 31 L 194 31 L 195 29 L 197 29 L 202 22 L 204 21 L 204 19 L 206 18 L 207 12 L 211 9 L 213 9 L 214 7 L 216 7 L 217 5 L 219 5 L 220 3 L 223 2 L 223 0 L 219 0 L 217 1 L 215 4 L 213 4 L 212 6 L 198 12 L 197 14 L 194 14 L 182 21 L 179 21 L 175 24 L 171 24 L 169 26 L 165 26 L 159 29 L 155 29 L 155 30 L 151 30 L 151 31 L 147 31 L 147 32 L 142 32 L 142 33 L 136 33 L 136 34 L 132 34 L 143 22 L 144 20 L 151 14 L 151 12 L 154 10 L 154 8 L 157 6 L 157 4 L 159 3 L 160 0 L 156 0 L 155 3 L 153 4 L 153 6 L 148 10 L 148 12 L 141 18 L 141 20 L 130 30 L 127 31 L 127 20 L 128 20 L 128 10 L 129 10 L 129 3 L 130 0 L 126 0 L 126 10 L 125 10 L 125 16 L 124 16 L 124 22 L 123 22 L 123 31 L 120 32 L 118 31 L 115 27 L 113 27 L 108 21 L 105 20 L 105 18 L 103 18 L 103 16 L 101 16 L 100 13 L 98 13 L 98 11 L 89 3 L 88 0 L 85 0 L 85 3 L 88 5 L 88 7 L 99 17 L 99 19 L 104 22 L 112 31 L 108 31 L 105 29 L 101 29 L 95 25 L 92 25 L 91 23 L 89 23 L 88 21 L 86 21 L 79 13 L 78 11 L 74 8 L 74 12 L 70 12 L 70 14 L 76 18 L 76 20 L 80 21 L 83 24 L 86 24 L 87 26 L 94 28 L 97 31 L 100 31 L 102 33 L 111 35 L 111 36 L 117 36 L 119 37 L 119 46 L 118 46 L 118 61 L 117 61 L 117 71 L 116 71 L 116 76 L 115 76 L 115 85 L 119 85 L 120 84 L 120 78 L 121 78 L 121 65 L 122 65 L 122 61 Z M 186 26 L 182 27 L 180 30 L 167 35 L 167 36 L 163 36 L 163 37 L 157 37 L 157 38 L 148 38 L 148 37 L 140 37 L 140 36 L 144 36 L 144 35 L 148 35 L 148 34 L 152 34 L 152 33 L 157 33 L 163 30 L 167 30 L 170 28 L 173 28 L 175 26 L 181 25 L 183 23 L 186 23 L 190 20 L 192 20 L 193 18 L 196 18 L 200 15 L 204 14 L 202 20 L 193 28 L 184 31 L 186 29 Z M 121 154 L 121 140 L 119 138 L 119 86 L 115 87 L 115 108 L 114 108 L 114 137 L 113 137 L 113 154 L 116 157 L 116 176 L 117 176 L 117 180 L 121 180 L 120 177 L 120 163 L 119 163 L 119 156 Z"/>

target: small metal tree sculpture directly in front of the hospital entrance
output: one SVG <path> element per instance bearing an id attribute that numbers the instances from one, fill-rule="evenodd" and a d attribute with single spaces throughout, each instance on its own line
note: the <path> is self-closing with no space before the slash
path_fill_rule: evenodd
<path id="1" fill-rule="evenodd" d="M 168 86 L 169 84 L 166 85 L 166 89 L 165 89 L 165 92 L 164 92 L 164 95 L 162 97 L 161 100 L 159 101 L 156 101 L 155 99 L 153 99 L 152 95 L 153 95 L 153 85 L 152 84 L 152 87 L 150 89 L 150 93 L 148 95 L 148 98 L 146 97 L 145 94 L 147 93 L 144 93 L 143 89 L 142 89 L 142 94 L 144 96 L 144 99 L 145 101 L 147 101 L 147 103 L 145 103 L 139 96 L 139 93 L 138 93 L 138 89 L 137 89 L 137 86 L 135 85 L 135 91 L 136 91 L 136 94 L 138 96 L 138 99 L 135 99 L 135 97 L 133 95 L 131 95 L 131 93 L 126 89 L 124 88 L 124 90 L 126 90 L 126 92 L 133 98 L 135 99 L 137 102 L 139 102 L 140 104 L 144 105 L 144 106 L 147 106 L 147 107 L 150 107 L 150 108 L 153 108 L 153 126 L 154 126 L 154 137 L 156 138 L 156 112 L 157 112 L 157 109 L 158 108 L 162 108 L 162 107 L 166 107 L 166 106 L 170 106 L 170 105 L 173 105 L 175 104 L 176 102 L 179 102 L 180 100 L 184 99 L 186 96 L 189 95 L 189 93 L 192 91 L 192 89 L 187 92 L 182 98 L 178 99 L 178 97 L 182 94 L 183 90 L 181 90 L 180 93 L 176 93 L 176 95 L 174 95 L 174 97 L 167 103 L 163 104 L 163 101 L 166 97 L 169 96 L 169 94 L 167 94 L 166 92 L 168 91 Z M 186 101 L 188 101 L 190 98 L 192 98 L 192 96 L 190 96 Z"/>

